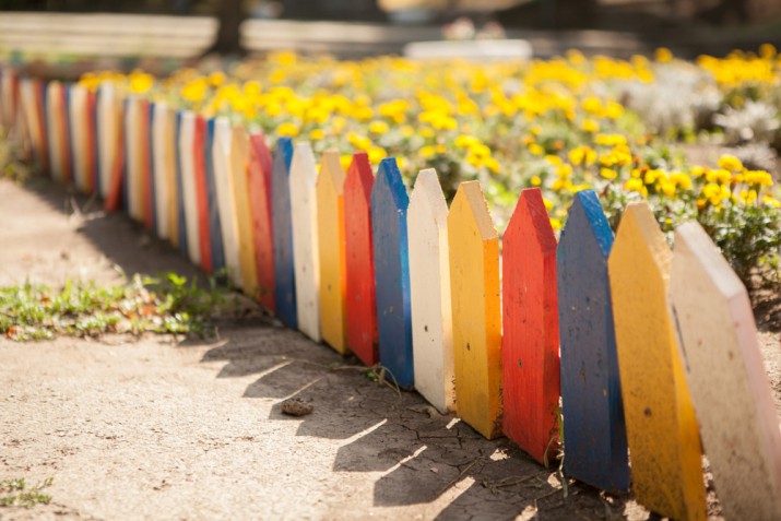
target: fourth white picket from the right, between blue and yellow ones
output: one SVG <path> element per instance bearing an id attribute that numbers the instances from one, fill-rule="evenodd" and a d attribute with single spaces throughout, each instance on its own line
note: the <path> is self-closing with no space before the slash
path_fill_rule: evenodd
<path id="1" fill-rule="evenodd" d="M 236 222 L 236 202 L 234 201 L 233 175 L 230 173 L 230 138 L 233 130 L 225 117 L 213 122 L 212 173 L 214 175 L 215 200 L 220 215 L 222 248 L 228 279 L 234 285 L 241 286 L 241 268 L 238 252 L 238 223 Z"/>

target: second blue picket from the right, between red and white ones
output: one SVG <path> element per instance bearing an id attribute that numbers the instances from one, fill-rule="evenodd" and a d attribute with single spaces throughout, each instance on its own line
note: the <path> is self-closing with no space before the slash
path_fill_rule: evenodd
<path id="1" fill-rule="evenodd" d="M 400 387 L 411 388 L 415 374 L 410 315 L 410 251 L 406 208 L 410 198 L 395 158 L 382 159 L 371 189 L 371 242 L 377 286 L 380 364 Z"/>

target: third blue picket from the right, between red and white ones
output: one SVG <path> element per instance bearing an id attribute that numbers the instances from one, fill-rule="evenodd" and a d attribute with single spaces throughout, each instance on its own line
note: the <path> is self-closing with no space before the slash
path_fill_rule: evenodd
<path id="1" fill-rule="evenodd" d="M 276 142 L 271 174 L 271 193 L 274 225 L 274 297 L 276 315 L 288 328 L 298 327 L 296 309 L 296 274 L 293 250 L 293 224 L 291 216 L 289 168 L 293 159 L 293 142 L 280 138 Z"/>

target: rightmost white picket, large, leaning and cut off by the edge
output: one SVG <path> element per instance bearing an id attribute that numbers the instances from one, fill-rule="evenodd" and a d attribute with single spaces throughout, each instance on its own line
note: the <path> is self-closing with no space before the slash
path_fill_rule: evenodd
<path id="1" fill-rule="evenodd" d="M 670 293 L 726 519 L 781 519 L 781 433 L 748 293 L 702 227 L 675 230 Z"/>

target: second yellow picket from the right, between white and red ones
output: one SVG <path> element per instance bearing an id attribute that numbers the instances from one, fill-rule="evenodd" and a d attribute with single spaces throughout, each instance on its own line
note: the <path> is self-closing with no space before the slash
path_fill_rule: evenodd
<path id="1" fill-rule="evenodd" d="M 448 248 L 455 411 L 493 439 L 501 435 L 499 236 L 478 181 L 462 182 L 455 192 Z"/>

